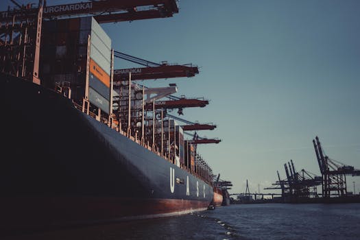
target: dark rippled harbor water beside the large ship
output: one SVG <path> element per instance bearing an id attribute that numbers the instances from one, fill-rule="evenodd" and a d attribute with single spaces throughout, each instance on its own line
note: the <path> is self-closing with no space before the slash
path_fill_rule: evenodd
<path id="1" fill-rule="evenodd" d="M 360 239 L 360 204 L 238 204 L 5 239 Z"/>

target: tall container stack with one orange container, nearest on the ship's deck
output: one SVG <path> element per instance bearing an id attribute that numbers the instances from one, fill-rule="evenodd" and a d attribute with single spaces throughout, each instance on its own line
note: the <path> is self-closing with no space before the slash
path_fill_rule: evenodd
<path id="1" fill-rule="evenodd" d="M 109 114 L 111 39 L 95 19 L 45 21 L 41 43 L 40 78 L 43 84 L 49 88 L 67 84 L 71 88 L 71 98 L 78 104 L 82 104 L 88 90 L 88 101 Z"/>

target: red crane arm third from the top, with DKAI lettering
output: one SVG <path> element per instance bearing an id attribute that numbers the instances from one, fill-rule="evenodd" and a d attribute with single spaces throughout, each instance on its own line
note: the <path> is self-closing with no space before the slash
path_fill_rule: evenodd
<path id="1" fill-rule="evenodd" d="M 179 99 L 179 100 L 169 100 L 169 101 L 155 101 L 155 109 L 161 108 L 195 108 L 200 107 L 204 108 L 208 104 L 208 100 L 200 99 Z M 147 104 L 147 110 L 152 110 L 152 104 Z"/>

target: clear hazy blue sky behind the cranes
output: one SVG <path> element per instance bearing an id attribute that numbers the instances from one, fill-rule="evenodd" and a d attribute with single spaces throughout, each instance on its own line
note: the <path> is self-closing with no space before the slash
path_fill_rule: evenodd
<path id="1" fill-rule="evenodd" d="M 330 158 L 360 169 L 360 1 L 182 0 L 179 7 L 168 19 L 102 26 L 117 51 L 200 67 L 195 77 L 141 83 L 176 83 L 175 95 L 210 100 L 180 117 L 217 125 L 198 134 L 221 143 L 198 150 L 234 184 L 230 193 L 244 192 L 247 179 L 250 191 L 260 184 L 264 192 L 276 170 L 285 178 L 290 159 L 297 171 L 320 175 L 315 136 Z M 117 60 L 115 67 L 138 66 Z M 358 193 L 360 176 L 347 180 Z"/>

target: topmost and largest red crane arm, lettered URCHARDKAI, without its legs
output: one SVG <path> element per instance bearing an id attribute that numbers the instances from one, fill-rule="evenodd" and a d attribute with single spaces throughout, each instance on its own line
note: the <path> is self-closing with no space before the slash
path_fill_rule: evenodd
<path id="1" fill-rule="evenodd" d="M 138 11 L 136 7 L 144 8 Z M 0 12 L 0 22 L 12 19 L 12 16 L 28 17 L 37 14 L 38 8 L 14 9 L 11 11 Z M 69 3 L 63 5 L 45 6 L 43 16 L 76 16 L 76 15 L 97 15 L 99 23 L 109 23 L 117 21 L 132 21 L 138 19 L 151 19 L 160 17 L 165 18 L 178 13 L 176 0 L 105 0 L 87 1 L 80 3 Z M 117 18 L 119 17 L 119 18 Z"/>

